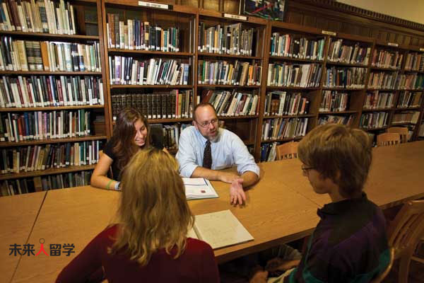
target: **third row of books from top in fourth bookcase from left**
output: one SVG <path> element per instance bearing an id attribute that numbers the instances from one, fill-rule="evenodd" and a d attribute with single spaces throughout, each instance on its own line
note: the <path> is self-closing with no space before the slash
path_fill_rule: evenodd
<path id="1" fill-rule="evenodd" d="M 265 96 L 264 116 L 304 115 L 309 111 L 310 100 L 302 93 L 271 91 Z"/>

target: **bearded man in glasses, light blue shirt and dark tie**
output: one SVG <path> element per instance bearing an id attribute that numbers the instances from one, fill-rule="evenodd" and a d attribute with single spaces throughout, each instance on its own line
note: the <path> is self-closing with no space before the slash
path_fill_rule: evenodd
<path id="1" fill-rule="evenodd" d="M 196 105 L 193 125 L 179 137 L 177 160 L 179 172 L 186 178 L 206 178 L 231 183 L 230 202 L 236 205 L 246 201 L 243 187 L 249 187 L 259 178 L 259 167 L 240 137 L 220 129 L 216 110 L 210 103 Z M 240 175 L 218 171 L 237 166 Z"/>

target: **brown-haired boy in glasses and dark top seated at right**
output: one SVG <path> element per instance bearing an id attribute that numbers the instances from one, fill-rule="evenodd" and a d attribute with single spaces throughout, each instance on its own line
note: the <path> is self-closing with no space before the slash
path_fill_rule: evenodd
<path id="1" fill-rule="evenodd" d="M 298 158 L 314 192 L 329 194 L 331 203 L 318 209 L 321 221 L 298 267 L 268 282 L 370 282 L 390 260 L 384 216 L 363 192 L 370 138 L 360 129 L 322 125 L 300 141 Z M 280 261 L 281 269 L 295 266 L 294 259 Z M 267 275 L 258 271 L 251 282 L 266 282 Z"/>

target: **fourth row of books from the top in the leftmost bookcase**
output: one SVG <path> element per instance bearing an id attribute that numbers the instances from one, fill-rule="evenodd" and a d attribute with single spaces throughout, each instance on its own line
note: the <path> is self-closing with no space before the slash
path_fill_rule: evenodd
<path id="1" fill-rule="evenodd" d="M 64 139 L 90 135 L 90 112 L 23 112 L 0 114 L 0 141 Z"/>

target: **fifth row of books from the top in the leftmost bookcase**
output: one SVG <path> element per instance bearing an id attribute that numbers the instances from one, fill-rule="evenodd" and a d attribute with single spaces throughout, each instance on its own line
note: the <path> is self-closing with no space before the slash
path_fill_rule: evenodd
<path id="1" fill-rule="evenodd" d="M 67 142 L 1 149 L 1 174 L 95 164 L 102 141 Z"/>

